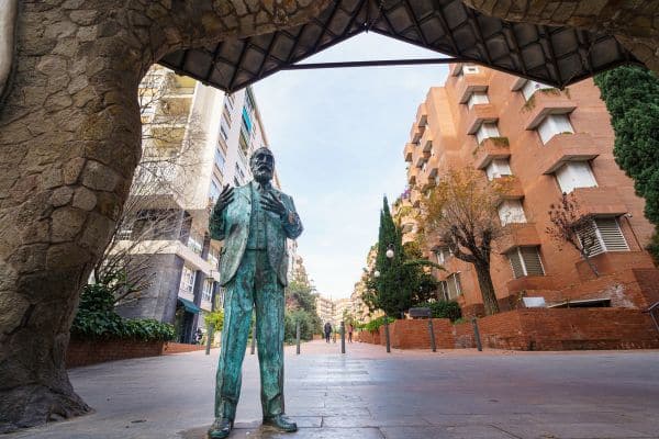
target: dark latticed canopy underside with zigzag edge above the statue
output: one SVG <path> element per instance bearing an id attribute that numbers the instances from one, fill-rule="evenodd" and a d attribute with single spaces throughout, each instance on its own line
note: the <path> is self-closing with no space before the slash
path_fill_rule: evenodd
<path id="1" fill-rule="evenodd" d="M 159 63 L 233 92 L 369 31 L 559 88 L 638 64 L 613 35 L 506 22 L 461 0 L 336 0 L 309 23 L 177 50 Z"/>

